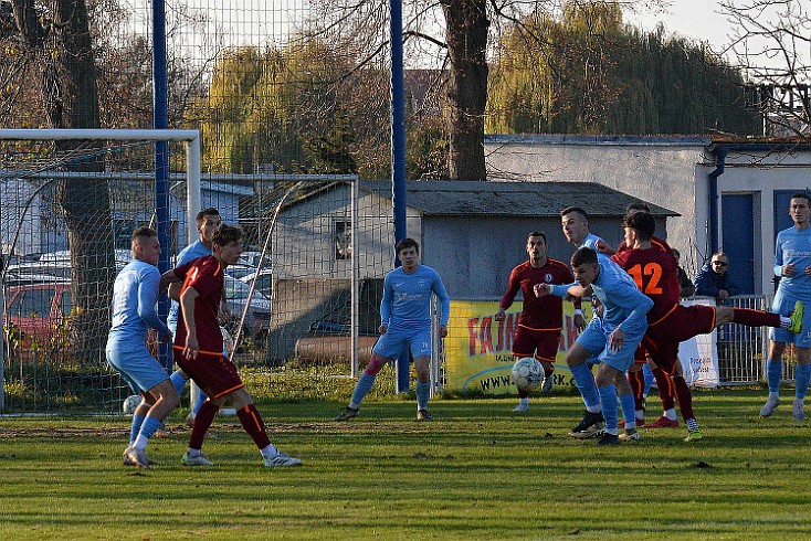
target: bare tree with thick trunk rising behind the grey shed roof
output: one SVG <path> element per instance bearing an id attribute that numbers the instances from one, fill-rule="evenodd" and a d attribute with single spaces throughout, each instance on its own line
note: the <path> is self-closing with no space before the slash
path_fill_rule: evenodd
<path id="1" fill-rule="evenodd" d="M 623 9 L 659 9 L 660 0 L 412 0 L 403 2 L 407 59 L 431 64 L 442 77 L 446 103 L 447 171 L 457 180 L 484 180 L 484 125 L 487 106 L 488 57 L 505 28 L 522 28 L 523 17 L 549 17 L 577 4 L 607 3 Z M 359 68 L 379 59 L 388 44 L 388 0 L 314 0 L 318 10 L 314 32 L 340 35 Z M 526 29 L 524 38 L 539 54 L 560 51 L 550 36 Z M 596 36 L 599 43 L 599 36 Z M 343 45 L 341 45 L 343 46 Z M 349 52 L 351 51 L 351 52 Z M 421 67 L 422 67 L 421 66 Z"/>

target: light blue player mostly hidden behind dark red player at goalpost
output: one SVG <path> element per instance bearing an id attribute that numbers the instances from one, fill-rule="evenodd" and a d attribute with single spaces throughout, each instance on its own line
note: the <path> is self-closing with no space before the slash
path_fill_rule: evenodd
<path id="1" fill-rule="evenodd" d="M 197 232 L 200 233 L 200 238 L 180 251 L 180 253 L 178 254 L 178 261 L 176 262 L 176 266 L 178 267 L 183 263 L 197 259 L 198 257 L 211 255 L 211 248 L 214 242 L 214 233 L 217 233 L 217 230 L 219 230 L 220 225 L 222 225 L 220 212 L 212 206 L 209 206 L 208 209 L 203 209 L 198 212 L 196 216 L 196 222 Z M 177 296 L 179 295 L 179 284 L 172 284 L 169 286 L 170 297 L 172 297 L 172 295 Z M 171 305 L 169 306 L 169 315 L 166 318 L 166 323 L 169 326 L 172 337 L 175 336 L 175 332 L 178 328 L 178 301 L 172 298 Z M 182 370 L 176 370 L 175 373 L 171 374 L 171 382 L 175 385 L 178 394 L 181 394 L 183 392 L 183 386 L 186 386 L 187 381 L 189 381 L 189 376 Z M 197 384 L 192 382 L 192 385 Z M 197 415 L 197 412 L 200 411 L 200 406 L 202 406 L 203 402 L 206 402 L 207 399 L 206 393 L 203 393 L 199 388 L 197 391 L 197 401 L 191 404 L 191 413 L 186 420 L 186 423 L 189 426 L 192 426 L 194 424 L 194 415 Z"/>

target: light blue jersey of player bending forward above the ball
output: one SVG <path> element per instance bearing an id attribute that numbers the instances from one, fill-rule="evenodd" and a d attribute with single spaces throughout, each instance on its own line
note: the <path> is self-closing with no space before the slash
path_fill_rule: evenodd
<path id="1" fill-rule="evenodd" d="M 603 306 L 603 326 L 613 331 L 618 327 L 629 333 L 644 333 L 647 311 L 653 300 L 640 291 L 630 274 L 602 254 L 597 254 L 600 275 L 591 284 L 594 296 Z M 570 284 L 571 285 L 571 284 Z M 552 286 L 552 293 L 565 297 L 569 286 Z"/>

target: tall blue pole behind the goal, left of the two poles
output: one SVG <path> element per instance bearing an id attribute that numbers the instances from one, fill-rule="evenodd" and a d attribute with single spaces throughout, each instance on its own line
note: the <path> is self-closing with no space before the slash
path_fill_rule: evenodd
<path id="1" fill-rule="evenodd" d="M 152 0 L 152 123 L 155 129 L 169 127 L 168 75 L 166 68 L 166 4 L 165 0 Z M 160 251 L 158 268 L 169 269 L 169 141 L 155 142 L 155 209 Z M 169 300 L 164 296 L 158 300 L 158 314 L 166 319 Z M 161 348 L 161 363 L 171 370 L 172 358 L 169 348 Z"/>

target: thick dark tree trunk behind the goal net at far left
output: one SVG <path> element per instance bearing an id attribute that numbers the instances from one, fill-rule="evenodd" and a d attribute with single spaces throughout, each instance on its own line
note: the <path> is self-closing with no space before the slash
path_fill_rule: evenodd
<path id="1" fill-rule="evenodd" d="M 22 47 L 20 65 L 39 77 L 40 103 L 54 128 L 99 126 L 96 70 L 85 0 L 12 0 L 13 25 L 4 36 Z M 29 91 L 30 92 L 30 91 Z M 76 141 L 57 141 L 70 152 Z M 98 168 L 92 161 L 72 169 Z M 85 178 L 66 180 L 57 193 L 71 248 L 74 311 L 71 351 L 89 358 L 104 351 L 109 326 L 110 287 L 115 277 L 113 231 L 107 182 Z"/>

